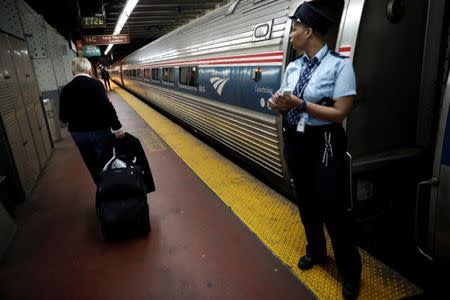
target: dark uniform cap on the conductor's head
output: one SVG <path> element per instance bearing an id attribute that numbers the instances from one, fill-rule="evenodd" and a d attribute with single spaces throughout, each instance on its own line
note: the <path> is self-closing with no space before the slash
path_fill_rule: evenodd
<path id="1" fill-rule="evenodd" d="M 303 2 L 295 10 L 294 15 L 289 18 L 296 22 L 304 23 L 306 26 L 311 27 L 314 31 L 317 31 L 322 35 L 327 33 L 333 23 L 325 13 L 309 2 Z"/>

